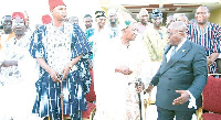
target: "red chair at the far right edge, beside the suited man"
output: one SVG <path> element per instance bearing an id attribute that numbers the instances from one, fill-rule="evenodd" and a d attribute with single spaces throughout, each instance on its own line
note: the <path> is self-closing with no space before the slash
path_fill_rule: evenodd
<path id="1" fill-rule="evenodd" d="M 202 92 L 203 120 L 221 120 L 221 78 L 208 76 L 208 83 Z"/>

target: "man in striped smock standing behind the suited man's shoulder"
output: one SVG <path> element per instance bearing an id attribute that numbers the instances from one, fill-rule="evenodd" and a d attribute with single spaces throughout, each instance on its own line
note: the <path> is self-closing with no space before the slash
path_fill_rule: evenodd
<path id="1" fill-rule="evenodd" d="M 218 70 L 217 57 L 220 53 L 221 28 L 218 24 L 208 22 L 210 10 L 201 6 L 196 11 L 196 23 L 188 25 L 187 34 L 190 40 L 204 46 L 207 51 L 208 73 L 214 74 Z"/>

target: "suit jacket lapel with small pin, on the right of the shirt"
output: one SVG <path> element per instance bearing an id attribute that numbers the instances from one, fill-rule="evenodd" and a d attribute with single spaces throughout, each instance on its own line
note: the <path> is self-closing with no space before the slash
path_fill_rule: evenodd
<path id="1" fill-rule="evenodd" d="M 183 57 L 191 48 L 189 40 L 187 40 L 183 45 L 175 53 L 172 57 L 170 57 L 169 62 L 165 64 L 166 66 L 161 70 L 161 74 L 167 72 L 177 61 L 179 61 L 181 57 Z M 166 57 L 166 54 L 165 54 Z"/>

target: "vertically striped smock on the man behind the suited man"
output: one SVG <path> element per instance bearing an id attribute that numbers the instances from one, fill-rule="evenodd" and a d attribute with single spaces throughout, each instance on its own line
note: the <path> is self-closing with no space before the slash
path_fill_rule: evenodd
<path id="1" fill-rule="evenodd" d="M 220 53 L 221 28 L 218 24 L 208 22 L 201 30 L 197 23 L 188 25 L 187 35 L 196 44 L 202 45 L 206 48 L 207 56 L 212 53 Z M 210 66 L 210 74 L 217 73 L 217 61 Z"/>

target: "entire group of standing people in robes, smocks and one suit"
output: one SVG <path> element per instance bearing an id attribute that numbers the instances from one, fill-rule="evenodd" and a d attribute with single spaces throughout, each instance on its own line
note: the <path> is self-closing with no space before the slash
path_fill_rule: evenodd
<path id="1" fill-rule="evenodd" d="M 145 120 L 145 95 L 156 101 L 158 120 L 191 120 L 202 106 L 221 48 L 208 7 L 196 10 L 193 22 L 168 15 L 165 26 L 159 9 L 141 9 L 136 21 L 110 8 L 85 14 L 82 28 L 62 0 L 49 7 L 35 30 L 25 11 L 2 19 L 0 120 L 82 120 L 92 79 L 94 120 Z"/>

